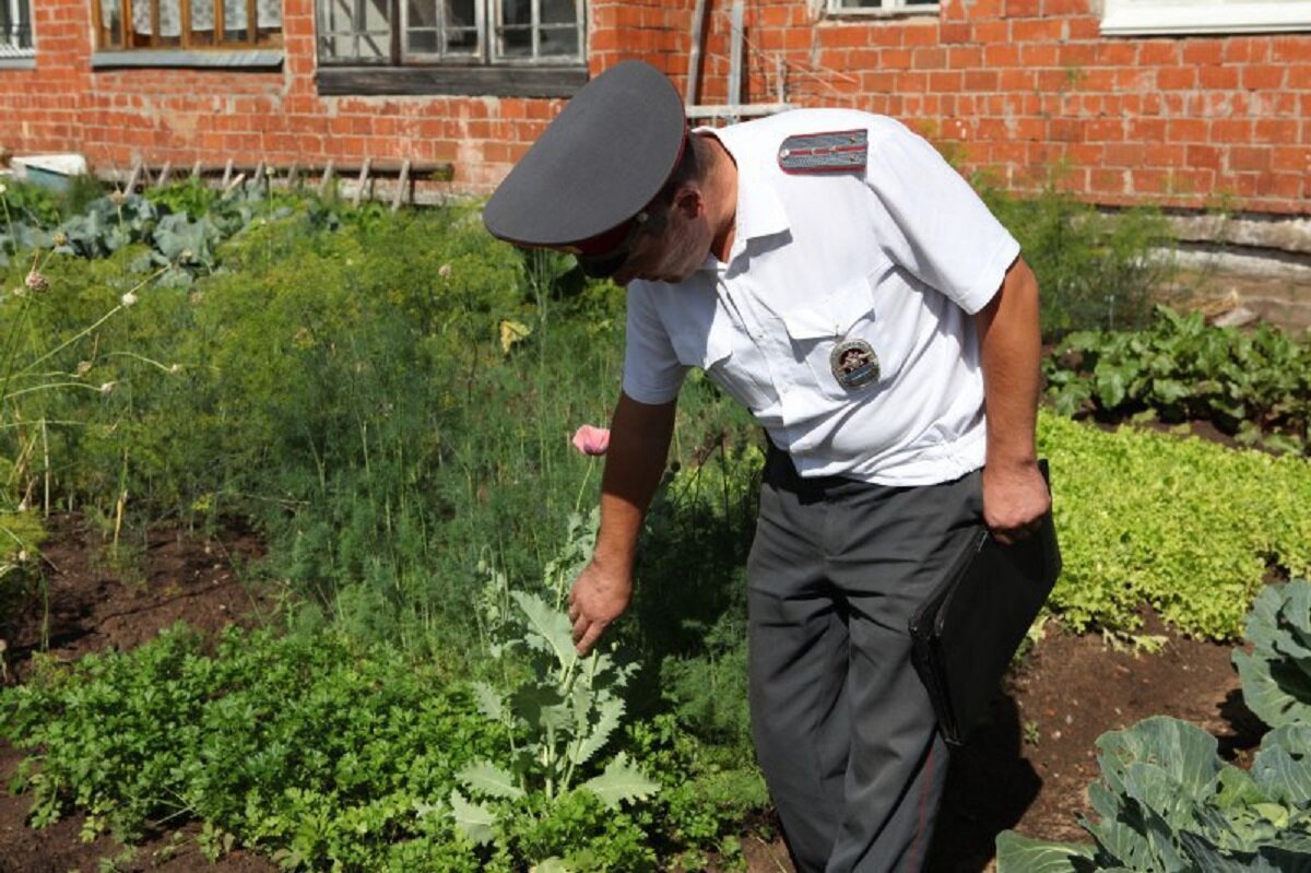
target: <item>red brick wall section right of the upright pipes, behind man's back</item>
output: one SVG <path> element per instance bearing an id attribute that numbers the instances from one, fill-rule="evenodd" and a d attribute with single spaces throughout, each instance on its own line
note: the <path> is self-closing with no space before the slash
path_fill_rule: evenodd
<path id="1" fill-rule="evenodd" d="M 728 5 L 704 102 L 725 98 Z M 791 102 L 893 115 L 1012 189 L 1311 212 L 1311 34 L 1104 38 L 1095 5 L 944 0 L 937 20 L 869 21 L 751 4 L 747 96 L 773 100 L 781 59 Z"/>

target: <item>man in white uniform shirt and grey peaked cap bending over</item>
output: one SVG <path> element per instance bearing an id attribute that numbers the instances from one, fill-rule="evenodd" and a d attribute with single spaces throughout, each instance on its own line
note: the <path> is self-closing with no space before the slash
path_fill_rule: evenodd
<path id="1" fill-rule="evenodd" d="M 753 734 L 798 870 L 920 869 L 947 746 L 907 621 L 986 524 L 1027 535 L 1038 295 L 1019 245 L 901 123 L 797 110 L 688 131 L 625 62 L 498 187 L 488 228 L 628 290 L 594 556 L 569 596 L 589 650 L 627 608 L 684 374 L 771 450 L 747 565 Z"/>

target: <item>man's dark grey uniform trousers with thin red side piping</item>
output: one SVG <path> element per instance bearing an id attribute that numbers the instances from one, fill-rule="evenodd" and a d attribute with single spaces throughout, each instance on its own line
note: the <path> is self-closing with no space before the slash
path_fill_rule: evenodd
<path id="1" fill-rule="evenodd" d="M 924 864 L 948 747 L 907 621 L 982 524 L 981 481 L 801 480 L 770 452 L 747 564 L 751 730 L 800 873 Z"/>

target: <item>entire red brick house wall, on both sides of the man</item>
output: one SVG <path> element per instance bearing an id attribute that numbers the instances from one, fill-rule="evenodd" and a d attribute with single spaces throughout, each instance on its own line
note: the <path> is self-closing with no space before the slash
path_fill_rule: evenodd
<path id="1" fill-rule="evenodd" d="M 944 0 L 939 17 L 746 10 L 743 100 L 899 118 L 1016 190 L 1311 212 L 1311 34 L 1103 38 L 1095 0 Z M 708 0 L 700 100 L 726 102 L 729 3 Z M 38 0 L 37 68 L 0 69 L 0 144 L 97 166 L 451 161 L 486 191 L 557 100 L 319 97 L 312 0 L 284 0 L 283 71 L 90 69 L 89 0 Z M 683 89 L 692 0 L 593 0 L 593 72 L 640 56 Z"/>

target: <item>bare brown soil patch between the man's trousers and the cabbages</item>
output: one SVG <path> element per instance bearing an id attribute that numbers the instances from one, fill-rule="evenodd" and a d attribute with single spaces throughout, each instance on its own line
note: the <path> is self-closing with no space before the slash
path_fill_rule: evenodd
<path id="1" fill-rule="evenodd" d="M 929 870 L 991 868 L 1006 828 L 1049 840 L 1091 842 L 1087 786 L 1099 776 L 1096 739 L 1148 716 L 1173 716 L 1215 735 L 1244 763 L 1264 725 L 1244 705 L 1234 646 L 1189 640 L 1148 616 L 1156 653 L 1117 649 L 1100 636 L 1049 634 L 992 701 L 991 721 L 952 758 Z"/>

